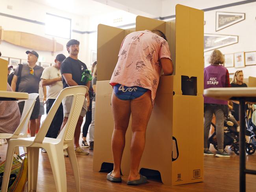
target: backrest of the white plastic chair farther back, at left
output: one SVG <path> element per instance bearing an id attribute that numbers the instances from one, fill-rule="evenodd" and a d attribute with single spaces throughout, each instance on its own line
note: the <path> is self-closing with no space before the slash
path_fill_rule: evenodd
<path id="1" fill-rule="evenodd" d="M 24 108 L 22 111 L 22 115 L 20 118 L 20 124 L 13 133 L 13 135 L 23 135 L 24 137 L 27 136 L 27 130 L 28 130 L 28 122 L 30 120 L 30 116 L 32 114 L 33 108 L 35 106 L 35 100 L 39 96 L 38 93 L 30 93 L 28 94 L 27 100 L 19 100 L 19 102 L 25 102 Z"/>

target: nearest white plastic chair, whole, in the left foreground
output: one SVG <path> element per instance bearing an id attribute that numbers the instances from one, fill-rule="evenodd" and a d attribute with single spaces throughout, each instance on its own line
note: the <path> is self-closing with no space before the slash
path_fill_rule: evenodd
<path id="1" fill-rule="evenodd" d="M 54 181 L 58 192 L 67 191 L 66 181 L 66 169 L 65 160 L 63 156 L 63 148 L 67 148 L 69 154 L 69 160 L 74 172 L 76 191 L 80 192 L 80 178 L 78 172 L 78 164 L 76 161 L 76 153 L 74 151 L 74 131 L 78 121 L 78 117 L 82 110 L 83 102 L 85 100 L 85 93 L 88 91 L 88 87 L 74 86 L 67 87 L 58 95 L 52 108 L 46 116 L 39 132 L 36 137 L 27 138 L 14 138 L 9 140 L 6 164 L 4 167 L 4 177 L 2 181 L 2 192 L 7 192 L 7 186 L 9 183 L 9 175 L 11 172 L 11 165 L 13 159 L 13 152 L 15 147 L 23 146 L 28 151 L 28 191 L 35 192 L 37 190 L 37 172 L 38 172 L 38 159 L 39 148 L 44 148 L 47 151 L 52 172 L 54 175 Z M 54 114 L 56 113 L 62 99 L 67 96 L 73 96 L 72 107 L 70 110 L 67 124 L 63 127 L 57 138 L 45 137 Z"/>

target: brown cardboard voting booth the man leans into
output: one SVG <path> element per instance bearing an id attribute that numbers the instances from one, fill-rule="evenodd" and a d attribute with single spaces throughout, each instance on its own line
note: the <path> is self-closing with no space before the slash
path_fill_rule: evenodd
<path id="1" fill-rule="evenodd" d="M 176 6 L 176 20 L 170 22 L 136 18 L 136 31 L 161 30 L 165 33 L 174 63 L 174 74 L 160 77 L 139 167 L 157 170 L 167 185 L 203 181 L 203 23 L 203 11 L 182 5 Z M 132 31 L 134 29 L 98 26 L 95 171 L 100 171 L 104 163 L 113 163 L 113 89 L 109 80 L 122 40 Z M 131 137 L 129 124 L 121 163 L 123 175 L 128 175 L 130 170 Z"/>

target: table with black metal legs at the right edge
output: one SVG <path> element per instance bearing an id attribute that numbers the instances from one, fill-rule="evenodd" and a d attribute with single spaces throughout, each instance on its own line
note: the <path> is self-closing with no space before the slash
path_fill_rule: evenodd
<path id="1" fill-rule="evenodd" d="M 256 87 L 210 88 L 204 90 L 204 96 L 220 100 L 239 101 L 239 191 L 245 192 L 245 175 L 256 175 L 256 170 L 248 170 L 245 165 L 245 102 L 256 102 Z"/>

